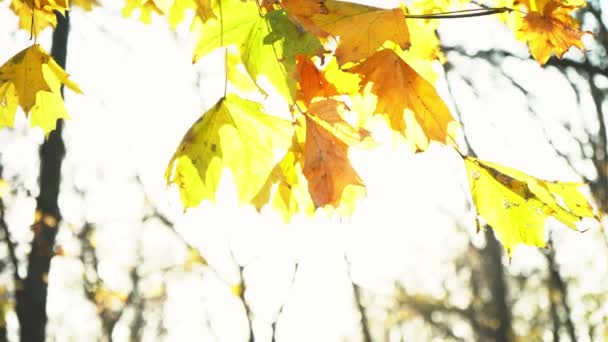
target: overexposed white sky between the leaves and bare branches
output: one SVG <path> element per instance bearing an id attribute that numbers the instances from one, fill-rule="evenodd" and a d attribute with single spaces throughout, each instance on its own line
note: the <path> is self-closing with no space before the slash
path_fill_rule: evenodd
<path id="1" fill-rule="evenodd" d="M 175 193 L 165 189 L 164 169 L 186 130 L 221 95 L 221 58 L 192 65 L 195 42 L 188 36 L 187 27 L 180 27 L 176 33 L 162 20 L 152 25 L 125 20 L 120 16 L 121 6 L 107 2 L 94 13 L 76 10 L 71 16 L 67 69 L 84 95 L 66 95 L 72 120 L 65 132 L 68 155 L 64 172 L 66 179 L 87 195 L 83 202 L 73 188 L 66 186 L 61 197 L 68 223 L 78 225 L 88 220 L 98 224 L 100 269 L 109 286 L 122 291 L 130 287 L 126 271 L 136 262 L 134 241 L 141 234 L 138 221 L 143 210 L 141 189 L 133 182 L 137 172 L 155 205 L 178 222 L 179 231 L 201 248 L 222 277 L 237 281 L 226 252 L 228 246 L 239 262 L 248 265 L 248 294 L 257 313 L 260 337 L 269 334 L 267 324 L 286 298 L 281 338 L 336 341 L 358 336 L 345 251 L 353 263 L 353 277 L 373 293 L 390 295 L 399 280 L 412 292 L 443 294 L 440 279 L 452 272 L 451 260 L 467 244 L 466 235 L 459 233 L 462 228 L 456 228 L 454 221 L 462 222 L 468 232 L 474 230 L 462 163 L 448 149 L 434 146 L 415 156 L 391 146 L 371 153 L 353 151 L 352 159 L 366 181 L 368 198 L 347 220 L 320 213 L 316 218 L 296 218 L 285 225 L 275 213 L 260 215 L 238 208 L 229 181 L 223 182 L 217 205 L 205 204 L 183 214 Z M 441 32 L 446 41 L 467 49 L 486 49 L 501 42 L 505 48 L 525 53 L 525 47 L 498 26 L 491 18 L 446 21 Z M 12 13 L 6 2 L 1 3 L 0 61 L 29 44 L 26 32 L 8 34 L 14 27 Z M 47 44 L 49 37 L 46 32 L 40 41 Z M 550 73 L 541 74 L 532 63 L 525 68 L 526 72 L 517 73 L 517 77 L 542 77 L 542 84 L 552 84 L 543 97 L 548 100 L 538 99 L 543 111 L 560 117 L 578 110 L 559 102 L 563 97 L 556 92 L 566 90 L 556 88 Z M 575 180 L 543 142 L 538 124 L 526 113 L 524 99 L 494 88 L 489 68 L 475 65 L 469 71 L 480 82 L 488 83 L 480 94 L 483 100 L 472 98 L 464 86 L 455 90 L 457 97 L 470 99 L 464 101 L 465 124 L 478 153 L 538 176 Z M 445 84 L 438 86 L 448 100 Z M 17 129 L 20 134 L 0 132 L 0 143 L 18 145 L 41 140 L 40 132 L 30 132 L 24 126 L 22 120 Z M 36 147 L 11 152 L 16 149 L 9 149 L 3 164 L 16 165 L 14 170 L 29 170 L 20 172 L 31 173 L 35 182 L 37 170 L 31 165 L 37 158 Z M 23 206 L 27 205 L 31 203 Z M 27 217 L 12 218 L 14 222 L 20 219 L 23 222 L 17 226 L 27 226 Z M 563 227 L 557 230 L 568 236 L 572 248 L 590 243 L 589 238 Z M 27 241 L 27 234 L 17 234 Z M 140 253 L 150 265 L 179 263 L 185 258 L 183 251 L 174 248 L 179 243 L 157 225 L 147 225 L 144 234 Z M 475 239 L 481 241 L 480 236 Z M 69 230 L 62 232 L 59 240 L 68 253 L 70 248 L 77 250 Z M 514 272 L 538 265 L 535 251 L 522 248 L 517 253 L 511 265 Z M 299 260 L 301 266 L 296 286 L 290 289 L 293 260 Z M 94 321 L 93 308 L 82 304 L 75 310 L 73 303 L 84 302 L 84 298 L 63 297 L 79 286 L 81 266 L 62 258 L 55 260 L 53 267 L 50 331 L 59 340 L 90 337 L 95 327 L 68 322 L 82 321 L 82 317 Z M 170 340 L 208 333 L 201 330 L 196 319 L 202 307 L 215 308 L 212 319 L 217 336 L 226 341 L 244 336 L 244 321 L 240 329 L 234 326 L 235 317 L 242 315 L 238 302 L 211 278 L 196 274 L 170 278 L 165 312 Z M 160 280 L 150 280 L 150 288 Z M 212 289 L 215 295 L 205 296 L 201 288 Z M 126 330 L 117 329 L 118 337 L 124 333 Z"/>

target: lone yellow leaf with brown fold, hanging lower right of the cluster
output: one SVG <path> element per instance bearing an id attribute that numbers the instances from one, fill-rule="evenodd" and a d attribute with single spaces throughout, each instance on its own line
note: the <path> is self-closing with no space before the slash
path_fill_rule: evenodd
<path id="1" fill-rule="evenodd" d="M 598 220 L 579 190 L 581 183 L 545 181 L 473 157 L 464 162 L 477 213 L 509 256 L 519 244 L 544 247 L 549 216 L 574 230 L 582 230 L 583 219 Z"/>

